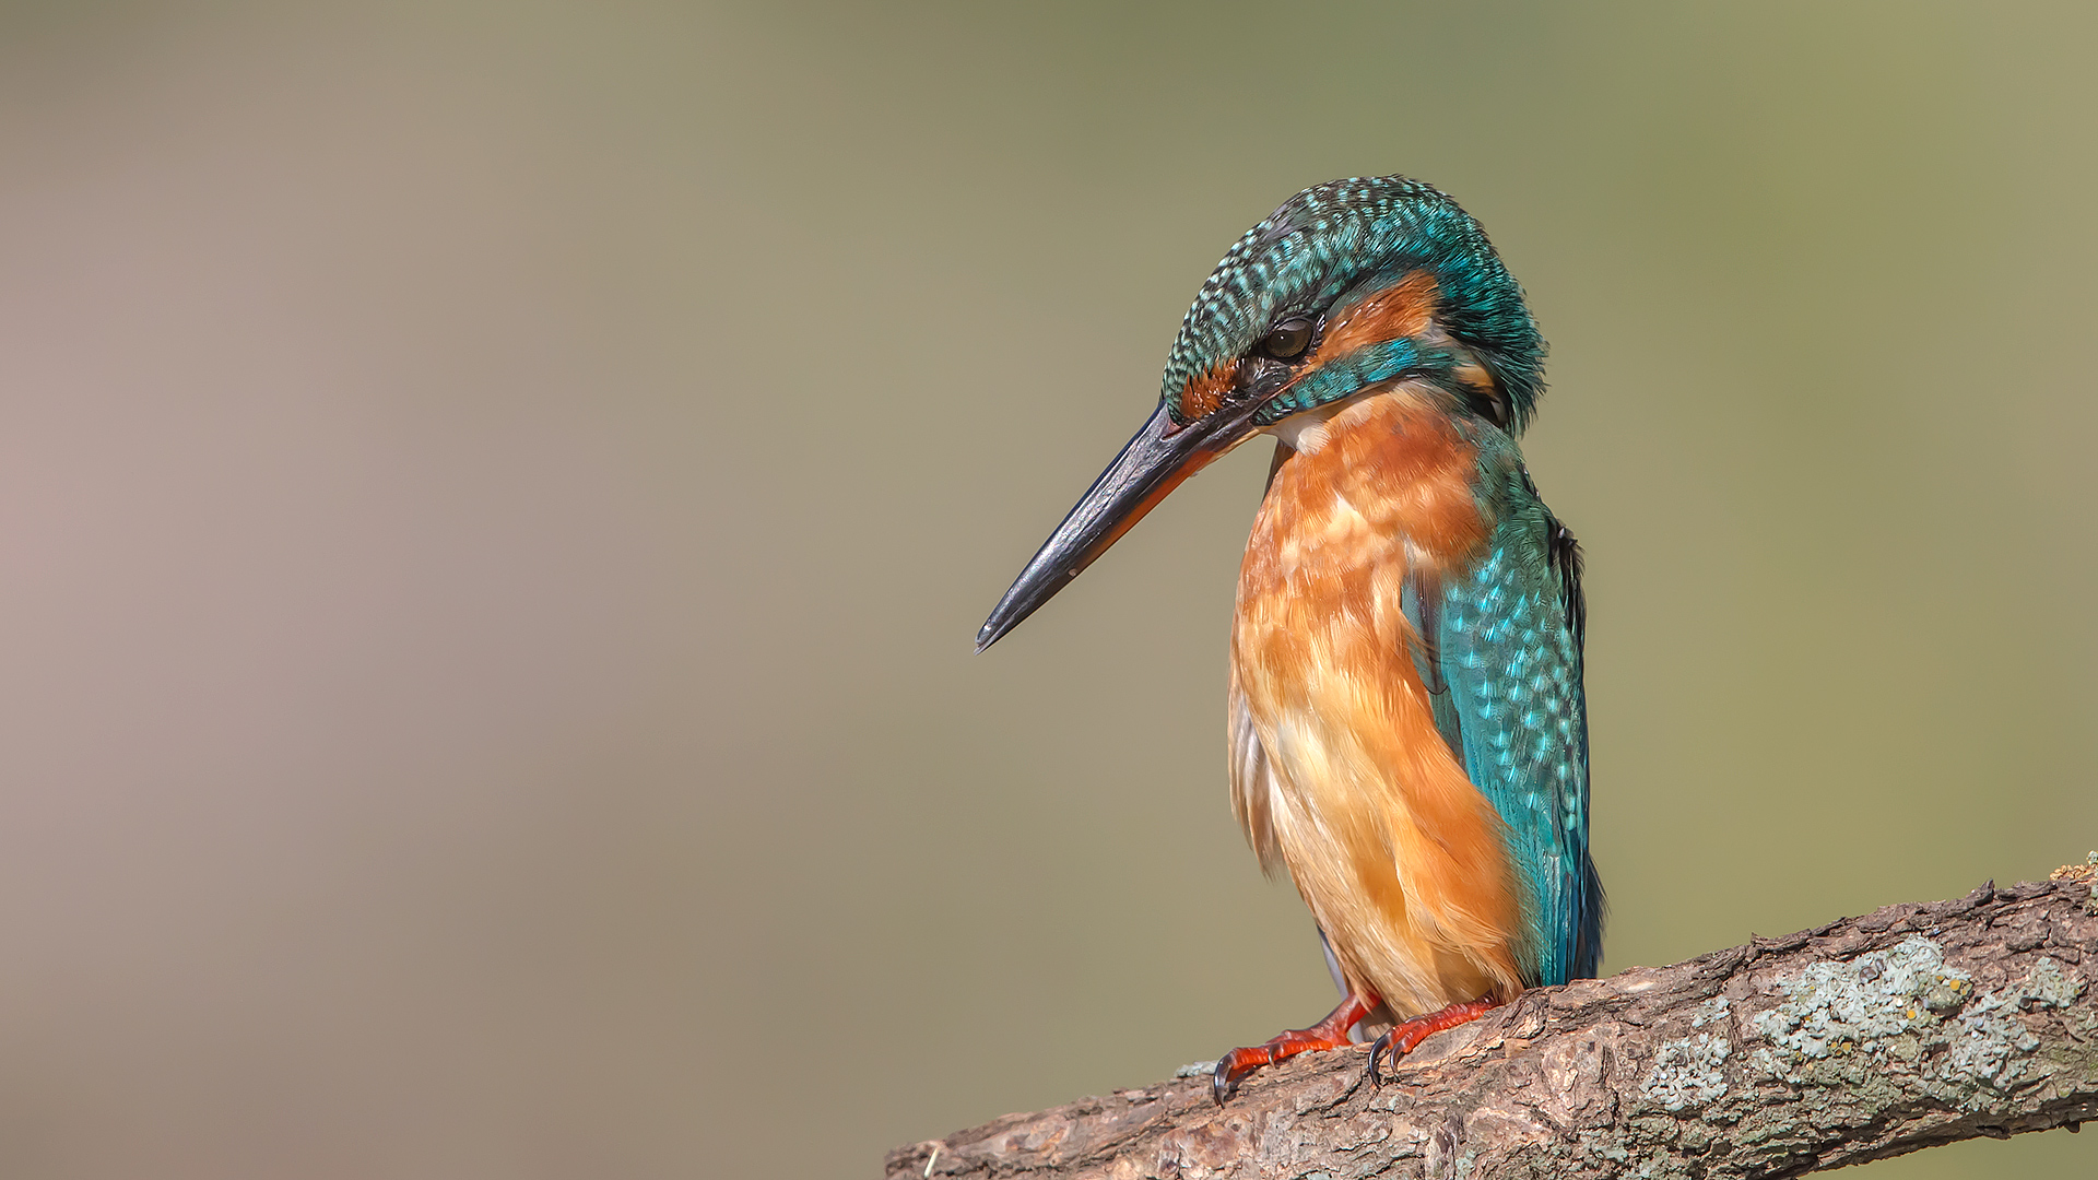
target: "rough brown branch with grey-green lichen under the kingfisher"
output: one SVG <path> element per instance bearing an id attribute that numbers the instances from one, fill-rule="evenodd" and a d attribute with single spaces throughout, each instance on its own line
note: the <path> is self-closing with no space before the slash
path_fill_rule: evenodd
<path id="1" fill-rule="evenodd" d="M 1007 1115 L 887 1176 L 1777 1178 L 2098 1117 L 2098 884 L 1981 886 L 1536 989 L 1425 1041 Z M 1185 1073 L 1185 1071 L 1183 1071 Z"/>

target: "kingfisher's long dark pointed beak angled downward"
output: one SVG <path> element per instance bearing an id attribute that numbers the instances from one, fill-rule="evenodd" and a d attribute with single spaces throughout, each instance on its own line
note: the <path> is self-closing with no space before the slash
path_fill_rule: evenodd
<path id="1" fill-rule="evenodd" d="M 999 642 L 1020 626 L 1072 577 L 1108 552 L 1169 491 L 1211 460 L 1244 441 L 1248 414 L 1211 414 L 1175 428 L 1164 403 L 1143 422 L 1135 439 L 1099 472 L 1078 506 L 1049 533 L 1034 561 L 1020 571 L 1013 588 L 999 598 L 984 630 L 976 632 L 976 651 Z"/>

